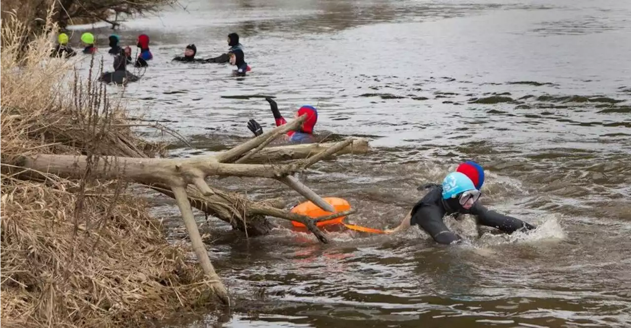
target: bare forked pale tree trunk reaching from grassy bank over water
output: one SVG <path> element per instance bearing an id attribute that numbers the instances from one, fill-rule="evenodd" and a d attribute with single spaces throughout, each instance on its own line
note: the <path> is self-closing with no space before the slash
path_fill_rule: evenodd
<path id="1" fill-rule="evenodd" d="M 146 156 L 93 157 L 83 155 L 25 155 L 16 157 L 13 163 L 8 164 L 14 167 L 28 169 L 27 174 L 28 172 L 47 172 L 62 177 L 80 177 L 89 169 L 95 177 L 102 179 L 131 180 L 133 182 L 149 185 L 154 190 L 158 190 L 170 197 L 175 197 L 198 261 L 203 267 L 204 272 L 213 279 L 213 290 L 216 295 L 218 295 L 224 303 L 229 305 L 230 298 L 227 290 L 216 274 L 199 235 L 197 223 L 194 220 L 191 209 L 191 204 L 195 204 L 197 201 L 191 200 L 190 194 L 195 194 L 195 196 L 201 195 L 199 198 L 203 199 L 203 208 L 206 209 L 206 211 L 212 209 L 215 213 L 221 213 L 224 220 L 228 217 L 232 220 L 234 216 L 239 215 L 244 221 L 245 218 L 252 215 L 276 216 L 285 220 L 302 223 L 307 226 L 307 229 L 314 233 L 321 242 L 326 243 L 326 236 L 324 236 L 322 231 L 315 225 L 317 220 L 294 213 L 286 213 L 280 209 L 260 203 L 250 204 L 249 206 L 235 206 L 233 203 L 238 202 L 238 199 L 235 200 L 225 193 L 218 192 L 217 189 L 211 188 L 206 183 L 206 177 L 209 175 L 276 179 L 292 187 L 298 193 L 302 194 L 302 196 L 314 202 L 314 204 L 317 204 L 325 211 L 335 212 L 330 204 L 327 204 L 322 197 L 318 196 L 314 191 L 310 190 L 309 187 L 295 179 L 292 174 L 300 170 L 305 170 L 311 165 L 314 165 L 317 161 L 328 158 L 348 148 L 354 142 L 352 138 L 333 144 L 323 151 L 315 153 L 313 156 L 285 165 L 230 163 L 239 161 L 240 159 L 244 161 L 251 158 L 257 151 L 263 149 L 262 144 L 271 142 L 273 138 L 280 136 L 290 129 L 296 129 L 299 124 L 302 124 L 305 118 L 306 115 L 302 115 L 302 117 L 298 117 L 298 119 L 285 124 L 285 126 L 276 127 L 276 129 L 251 139 L 244 144 L 240 144 L 235 148 L 212 156 L 170 159 L 148 158 Z M 214 197 L 214 199 L 209 197 Z M 242 211 L 242 213 L 240 213 L 240 211 Z M 345 216 L 351 213 L 354 213 L 354 211 L 333 214 L 332 216 Z M 320 220 L 323 219 L 320 218 Z"/>

